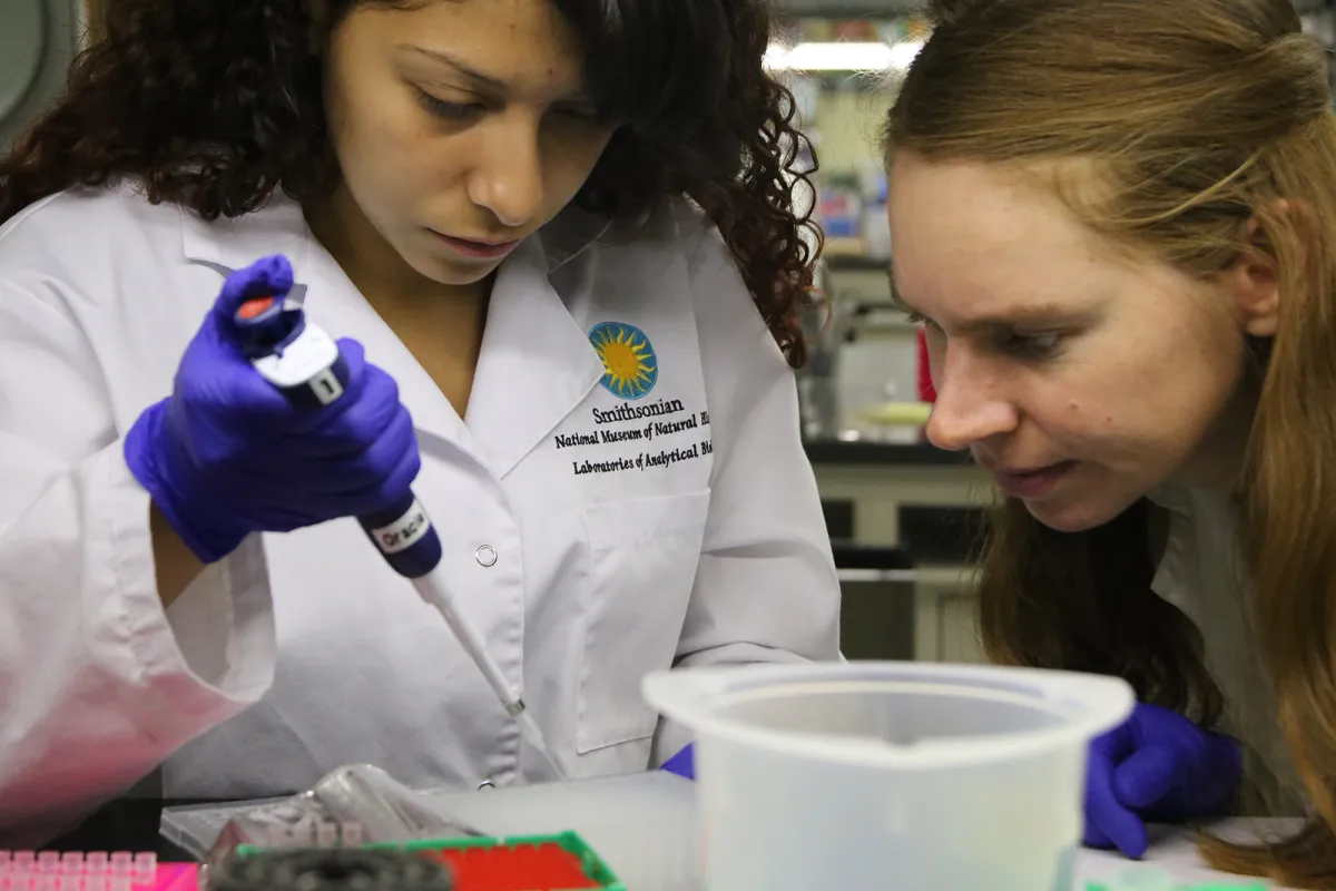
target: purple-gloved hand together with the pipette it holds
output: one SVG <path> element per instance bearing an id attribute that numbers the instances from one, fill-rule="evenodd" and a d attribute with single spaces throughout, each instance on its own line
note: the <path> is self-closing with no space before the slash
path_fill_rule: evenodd
<path id="1" fill-rule="evenodd" d="M 176 391 L 127 437 L 131 472 L 204 561 L 253 532 L 357 517 L 399 574 L 445 618 L 500 704 L 557 776 L 561 765 L 520 692 L 462 617 L 441 544 L 413 497 L 420 458 L 394 381 L 350 339 L 287 307 L 293 270 L 271 256 L 227 278 L 186 350 Z"/>

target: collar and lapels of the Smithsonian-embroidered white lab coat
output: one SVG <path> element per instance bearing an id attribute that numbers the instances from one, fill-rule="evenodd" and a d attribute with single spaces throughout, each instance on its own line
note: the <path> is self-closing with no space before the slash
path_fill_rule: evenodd
<path id="1" fill-rule="evenodd" d="M 313 318 L 334 337 L 357 338 L 367 357 L 394 377 L 417 430 L 470 454 L 497 478 L 509 473 L 603 377 L 603 362 L 588 334 L 548 277 L 607 228 L 605 220 L 568 207 L 501 264 L 465 423 L 315 240 L 295 200 L 275 194 L 253 214 L 212 223 L 182 211 L 186 258 L 214 266 L 223 275 L 262 256 L 285 254 L 297 278 L 293 297 L 305 302 L 310 291 Z"/>

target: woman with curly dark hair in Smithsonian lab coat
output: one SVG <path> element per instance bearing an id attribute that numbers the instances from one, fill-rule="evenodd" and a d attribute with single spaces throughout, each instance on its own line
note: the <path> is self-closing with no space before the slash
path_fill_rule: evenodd
<path id="1" fill-rule="evenodd" d="M 142 777 L 550 776 L 351 518 L 409 482 L 568 775 L 684 749 L 645 672 L 838 656 L 763 0 L 99 24 L 0 162 L 0 840 Z M 342 338 L 334 403 L 247 362 L 261 295 Z"/>

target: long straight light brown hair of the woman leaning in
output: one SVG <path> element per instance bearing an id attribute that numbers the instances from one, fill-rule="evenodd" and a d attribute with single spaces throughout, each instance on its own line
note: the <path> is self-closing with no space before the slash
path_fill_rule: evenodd
<path id="1" fill-rule="evenodd" d="M 1098 188 L 1062 191 L 1096 230 L 1197 275 L 1246 250 L 1276 264 L 1281 319 L 1261 350 L 1240 549 L 1315 812 L 1292 839 L 1249 848 L 1208 838 L 1202 852 L 1229 871 L 1336 888 L 1336 118 L 1325 51 L 1289 0 L 931 7 L 937 27 L 887 119 L 888 162 L 912 151 L 1093 171 Z M 1197 629 L 1150 590 L 1146 517 L 1142 501 L 1065 534 L 1002 504 L 982 557 L 985 647 L 1002 664 L 1122 676 L 1144 701 L 1209 727 L 1221 695 Z"/>

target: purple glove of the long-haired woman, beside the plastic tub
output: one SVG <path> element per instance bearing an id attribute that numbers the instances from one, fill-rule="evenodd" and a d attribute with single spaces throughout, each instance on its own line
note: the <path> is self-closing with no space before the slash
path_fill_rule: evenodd
<path id="1" fill-rule="evenodd" d="M 1085 843 L 1140 858 L 1148 822 L 1224 816 L 1241 777 L 1242 751 L 1233 739 L 1141 703 L 1090 744 Z"/>

